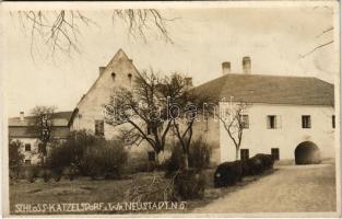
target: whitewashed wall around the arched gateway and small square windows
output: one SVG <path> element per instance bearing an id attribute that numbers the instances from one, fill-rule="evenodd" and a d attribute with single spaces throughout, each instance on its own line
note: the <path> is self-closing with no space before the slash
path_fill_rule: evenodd
<path id="1" fill-rule="evenodd" d="M 228 107 L 228 103 L 221 103 L 220 107 Z M 316 143 L 322 158 L 334 157 L 332 106 L 252 104 L 245 113 L 249 115 L 249 128 L 244 129 L 240 149 L 249 149 L 249 157 L 260 152 L 271 153 L 271 148 L 279 148 L 280 159 L 294 159 L 295 148 L 303 141 Z M 268 115 L 279 115 L 281 127 L 268 129 Z M 311 116 L 311 128 L 302 128 L 302 115 Z M 235 160 L 234 143 L 222 123 L 220 145 L 221 162 Z"/>

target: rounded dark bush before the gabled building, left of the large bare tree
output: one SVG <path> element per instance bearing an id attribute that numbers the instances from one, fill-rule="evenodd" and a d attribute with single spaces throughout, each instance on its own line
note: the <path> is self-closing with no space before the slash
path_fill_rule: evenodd
<path id="1" fill-rule="evenodd" d="M 81 171 L 93 178 L 120 177 L 127 162 L 127 151 L 118 141 L 103 140 L 96 147 L 87 148 L 81 161 Z"/>

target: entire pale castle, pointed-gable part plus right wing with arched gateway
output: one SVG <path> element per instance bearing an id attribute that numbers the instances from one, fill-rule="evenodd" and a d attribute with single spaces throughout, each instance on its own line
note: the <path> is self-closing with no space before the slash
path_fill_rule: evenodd
<path id="1" fill-rule="evenodd" d="M 294 159 L 294 150 L 305 141 L 318 146 L 322 157 L 334 155 L 334 94 L 333 85 L 311 77 L 280 77 L 252 74 L 248 57 L 243 60 L 243 73 L 231 73 L 224 62 L 223 76 L 194 88 L 211 96 L 220 107 L 232 102 L 251 104 L 244 114 L 248 128 L 244 129 L 240 153 L 272 153 L 279 159 Z M 87 129 L 95 135 L 113 138 L 117 129 L 104 122 L 104 105 L 114 92 L 133 88 L 139 74 L 132 60 L 119 49 L 98 78 L 78 103 L 70 120 L 72 130 Z M 210 118 L 194 125 L 193 138 L 204 137 L 213 148 L 212 161 L 220 163 L 235 159 L 235 147 L 219 119 Z M 131 147 L 148 159 L 151 148 Z"/>

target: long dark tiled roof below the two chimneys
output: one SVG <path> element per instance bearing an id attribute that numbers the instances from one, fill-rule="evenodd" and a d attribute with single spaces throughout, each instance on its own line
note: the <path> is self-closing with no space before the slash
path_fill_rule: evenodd
<path id="1" fill-rule="evenodd" d="M 314 77 L 228 73 L 194 88 L 213 101 L 333 105 L 333 84 Z"/>

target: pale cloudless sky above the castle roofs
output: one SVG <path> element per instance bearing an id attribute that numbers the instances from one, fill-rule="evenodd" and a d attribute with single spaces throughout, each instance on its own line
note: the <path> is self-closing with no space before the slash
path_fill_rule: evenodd
<path id="1" fill-rule="evenodd" d="M 72 111 L 119 48 L 139 70 L 162 74 L 178 71 L 193 78 L 194 85 L 222 76 L 221 64 L 231 61 L 241 73 L 241 59 L 251 58 L 251 73 L 317 77 L 334 83 L 339 76 L 337 45 L 330 44 L 302 58 L 316 46 L 333 39 L 333 10 L 329 7 L 161 9 L 172 43 L 146 33 L 148 42 L 128 37 L 109 10 L 82 11 L 96 25 L 80 24 L 80 54 L 31 54 L 30 32 L 17 19 L 7 16 L 3 80 L 9 116 L 25 115 L 35 105 L 56 105 Z M 334 31 L 320 35 L 329 27 Z M 39 44 L 39 42 L 34 42 Z M 42 42 L 40 42 L 42 43 Z M 42 55 L 43 54 L 43 55 Z"/>

